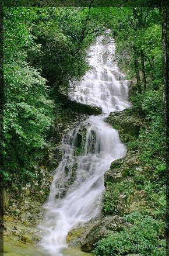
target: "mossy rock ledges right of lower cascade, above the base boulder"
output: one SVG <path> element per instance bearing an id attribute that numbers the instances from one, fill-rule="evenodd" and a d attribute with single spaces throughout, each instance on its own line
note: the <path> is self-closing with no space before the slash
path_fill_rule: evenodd
<path id="1" fill-rule="evenodd" d="M 136 189 L 136 180 L 142 177 L 147 167 L 141 166 L 139 150 L 128 147 L 139 137 L 144 123 L 131 115 L 130 109 L 111 113 L 106 121 L 119 131 L 121 141 L 126 144 L 128 152 L 124 158 L 112 162 L 110 169 L 105 172 L 105 192 L 103 195 L 104 214 L 124 216 L 133 211 L 146 209 L 145 192 Z"/>

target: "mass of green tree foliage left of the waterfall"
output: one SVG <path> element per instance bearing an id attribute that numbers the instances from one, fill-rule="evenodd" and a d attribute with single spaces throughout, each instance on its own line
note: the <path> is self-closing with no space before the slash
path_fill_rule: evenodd
<path id="1" fill-rule="evenodd" d="M 97 12 L 89 8 L 20 7 L 4 12 L 3 179 L 9 186 L 29 182 L 48 157 L 54 119 L 69 112 L 57 94 L 67 93 L 89 70 L 86 47 L 102 25 L 93 23 Z"/>

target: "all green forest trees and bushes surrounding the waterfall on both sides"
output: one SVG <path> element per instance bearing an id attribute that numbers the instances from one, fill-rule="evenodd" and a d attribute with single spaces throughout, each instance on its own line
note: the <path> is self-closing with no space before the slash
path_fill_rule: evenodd
<path id="1" fill-rule="evenodd" d="M 119 255 L 128 251 L 165 255 L 161 8 L 5 8 L 4 15 L 5 187 L 20 188 L 34 181 L 37 166 L 48 157 L 51 130 L 69 113 L 59 95 L 68 95 L 69 88 L 90 69 L 87 47 L 111 29 L 119 68 L 133 81 L 130 115 L 144 123 L 128 148 L 139 154 L 149 170 L 135 178 L 137 189 L 146 193 L 148 206 L 126 217 L 133 223 L 132 230 L 98 241 L 95 253 L 112 255 L 112 250 L 119 250 Z M 104 195 L 105 215 L 115 214 L 110 191 Z M 149 252 L 143 247 L 134 249 L 133 240 L 156 244 L 156 248 Z"/>

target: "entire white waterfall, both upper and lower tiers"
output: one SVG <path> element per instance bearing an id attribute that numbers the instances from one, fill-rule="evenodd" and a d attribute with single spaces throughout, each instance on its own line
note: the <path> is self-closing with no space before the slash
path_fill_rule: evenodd
<path id="1" fill-rule="evenodd" d="M 100 213 L 104 173 L 112 161 L 126 154 L 118 132 L 104 122 L 110 112 L 131 106 L 128 81 L 118 71 L 114 51 L 114 40 L 108 34 L 98 37 L 89 49 L 92 70 L 69 94 L 74 101 L 101 107 L 103 114 L 90 116 L 62 140 L 62 161 L 55 170 L 40 226 L 44 233 L 40 245 L 47 255 L 63 255 L 68 231 Z M 82 129 L 86 139 L 81 141 L 80 154 L 76 154 Z"/>

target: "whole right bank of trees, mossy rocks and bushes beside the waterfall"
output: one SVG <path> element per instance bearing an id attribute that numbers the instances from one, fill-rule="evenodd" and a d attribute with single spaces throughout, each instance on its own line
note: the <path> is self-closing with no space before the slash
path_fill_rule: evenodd
<path id="1" fill-rule="evenodd" d="M 105 174 L 104 215 L 120 215 L 132 227 L 96 243 L 96 255 L 166 255 L 166 152 L 163 120 L 161 12 L 128 10 L 115 29 L 119 67 L 132 79 L 132 108 L 111 113 L 128 154 Z M 135 79 L 133 79 L 135 77 Z"/>

